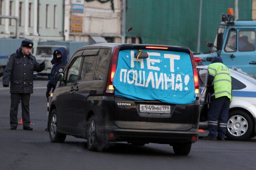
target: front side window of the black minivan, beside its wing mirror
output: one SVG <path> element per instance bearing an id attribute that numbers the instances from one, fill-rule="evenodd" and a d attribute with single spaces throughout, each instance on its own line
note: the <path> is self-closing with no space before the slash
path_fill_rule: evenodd
<path id="1" fill-rule="evenodd" d="M 71 85 L 77 80 L 79 80 L 79 71 L 81 68 L 81 60 L 82 56 L 75 58 L 72 63 L 69 65 L 69 69 L 67 72 L 67 83 L 66 85 Z"/>

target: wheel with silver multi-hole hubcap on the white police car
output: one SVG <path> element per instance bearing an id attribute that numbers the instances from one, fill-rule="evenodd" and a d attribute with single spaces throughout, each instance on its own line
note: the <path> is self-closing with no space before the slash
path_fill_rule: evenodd
<path id="1" fill-rule="evenodd" d="M 233 110 L 228 115 L 226 137 L 231 140 L 244 141 L 250 138 L 253 121 L 250 115 L 242 110 Z"/>

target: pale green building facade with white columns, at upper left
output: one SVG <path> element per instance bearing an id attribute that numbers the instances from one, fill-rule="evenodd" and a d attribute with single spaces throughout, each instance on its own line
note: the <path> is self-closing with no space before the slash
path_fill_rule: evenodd
<path id="1" fill-rule="evenodd" d="M 64 0 L 0 0 L 1 16 L 19 18 L 19 38 L 63 40 Z M 0 18 L 0 38 L 15 37 L 14 19 Z"/>

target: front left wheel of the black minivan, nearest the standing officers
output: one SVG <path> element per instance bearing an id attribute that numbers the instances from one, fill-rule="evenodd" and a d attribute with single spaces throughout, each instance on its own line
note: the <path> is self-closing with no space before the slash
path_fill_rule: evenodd
<path id="1" fill-rule="evenodd" d="M 50 140 L 54 143 L 63 143 L 66 139 L 65 134 L 58 132 L 58 126 L 57 126 L 57 112 L 56 110 L 52 110 L 51 117 L 50 117 L 50 127 L 49 127 L 49 135 Z"/>

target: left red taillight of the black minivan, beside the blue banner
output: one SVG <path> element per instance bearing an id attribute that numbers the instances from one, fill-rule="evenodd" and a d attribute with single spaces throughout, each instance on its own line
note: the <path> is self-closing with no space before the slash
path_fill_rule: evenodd
<path id="1" fill-rule="evenodd" d="M 110 69 L 108 73 L 108 82 L 105 89 L 105 94 L 107 95 L 113 95 L 115 91 L 115 88 L 113 87 L 112 82 L 114 79 L 115 70 L 117 69 L 118 54 L 119 54 L 119 46 L 114 48 L 112 57 L 111 57 Z"/>

